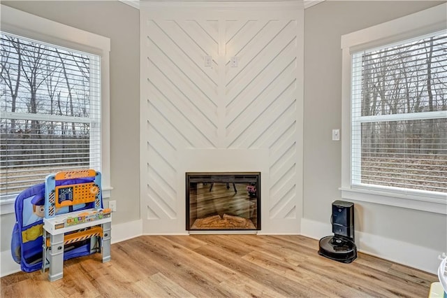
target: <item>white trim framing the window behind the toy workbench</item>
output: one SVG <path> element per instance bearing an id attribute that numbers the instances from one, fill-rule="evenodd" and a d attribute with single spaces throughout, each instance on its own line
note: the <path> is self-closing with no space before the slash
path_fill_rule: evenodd
<path id="1" fill-rule="evenodd" d="M 101 57 L 101 175 L 103 197 L 110 197 L 110 38 L 1 5 L 1 31 L 90 52 Z M 13 199 L 0 201 L 0 215 L 14 213 Z"/>

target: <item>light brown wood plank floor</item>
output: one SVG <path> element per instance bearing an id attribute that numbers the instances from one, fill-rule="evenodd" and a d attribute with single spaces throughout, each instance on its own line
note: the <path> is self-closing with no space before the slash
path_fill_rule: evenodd
<path id="1" fill-rule="evenodd" d="M 64 278 L 1 278 L 1 297 L 427 297 L 437 276 L 359 253 L 351 264 L 305 236 L 140 236 L 64 263 Z"/>

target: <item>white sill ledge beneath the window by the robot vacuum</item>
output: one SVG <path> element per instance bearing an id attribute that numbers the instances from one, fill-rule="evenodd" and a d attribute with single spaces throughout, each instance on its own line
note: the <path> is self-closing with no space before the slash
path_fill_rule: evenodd
<path id="1" fill-rule="evenodd" d="M 423 197 L 415 194 L 402 194 L 351 187 L 340 187 L 339 190 L 342 191 L 343 199 L 353 199 L 355 201 L 366 201 L 368 203 L 447 215 L 447 194 L 446 197 L 442 198 L 441 196 Z"/>

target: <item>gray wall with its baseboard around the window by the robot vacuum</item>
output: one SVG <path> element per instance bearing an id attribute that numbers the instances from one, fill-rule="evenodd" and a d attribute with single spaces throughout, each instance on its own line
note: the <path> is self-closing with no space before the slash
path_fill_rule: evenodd
<path id="1" fill-rule="evenodd" d="M 439 3 L 325 1 L 305 10 L 303 234 L 331 234 L 331 203 L 343 199 L 338 190 L 342 143 L 331 141 L 332 129 L 342 126 L 341 36 Z M 427 271 L 436 269 L 437 255 L 447 250 L 446 215 L 354 203 L 360 250 Z"/>

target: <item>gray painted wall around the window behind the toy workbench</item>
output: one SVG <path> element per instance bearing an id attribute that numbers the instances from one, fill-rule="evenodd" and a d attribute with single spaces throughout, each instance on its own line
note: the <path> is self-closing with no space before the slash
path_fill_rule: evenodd
<path id="1" fill-rule="evenodd" d="M 119 1 L 1 1 L 2 4 L 110 38 L 110 199 L 113 225 L 140 220 L 139 11 Z M 105 202 L 107 206 L 107 202 Z M 1 252 L 10 249 L 15 217 L 1 215 Z"/>

